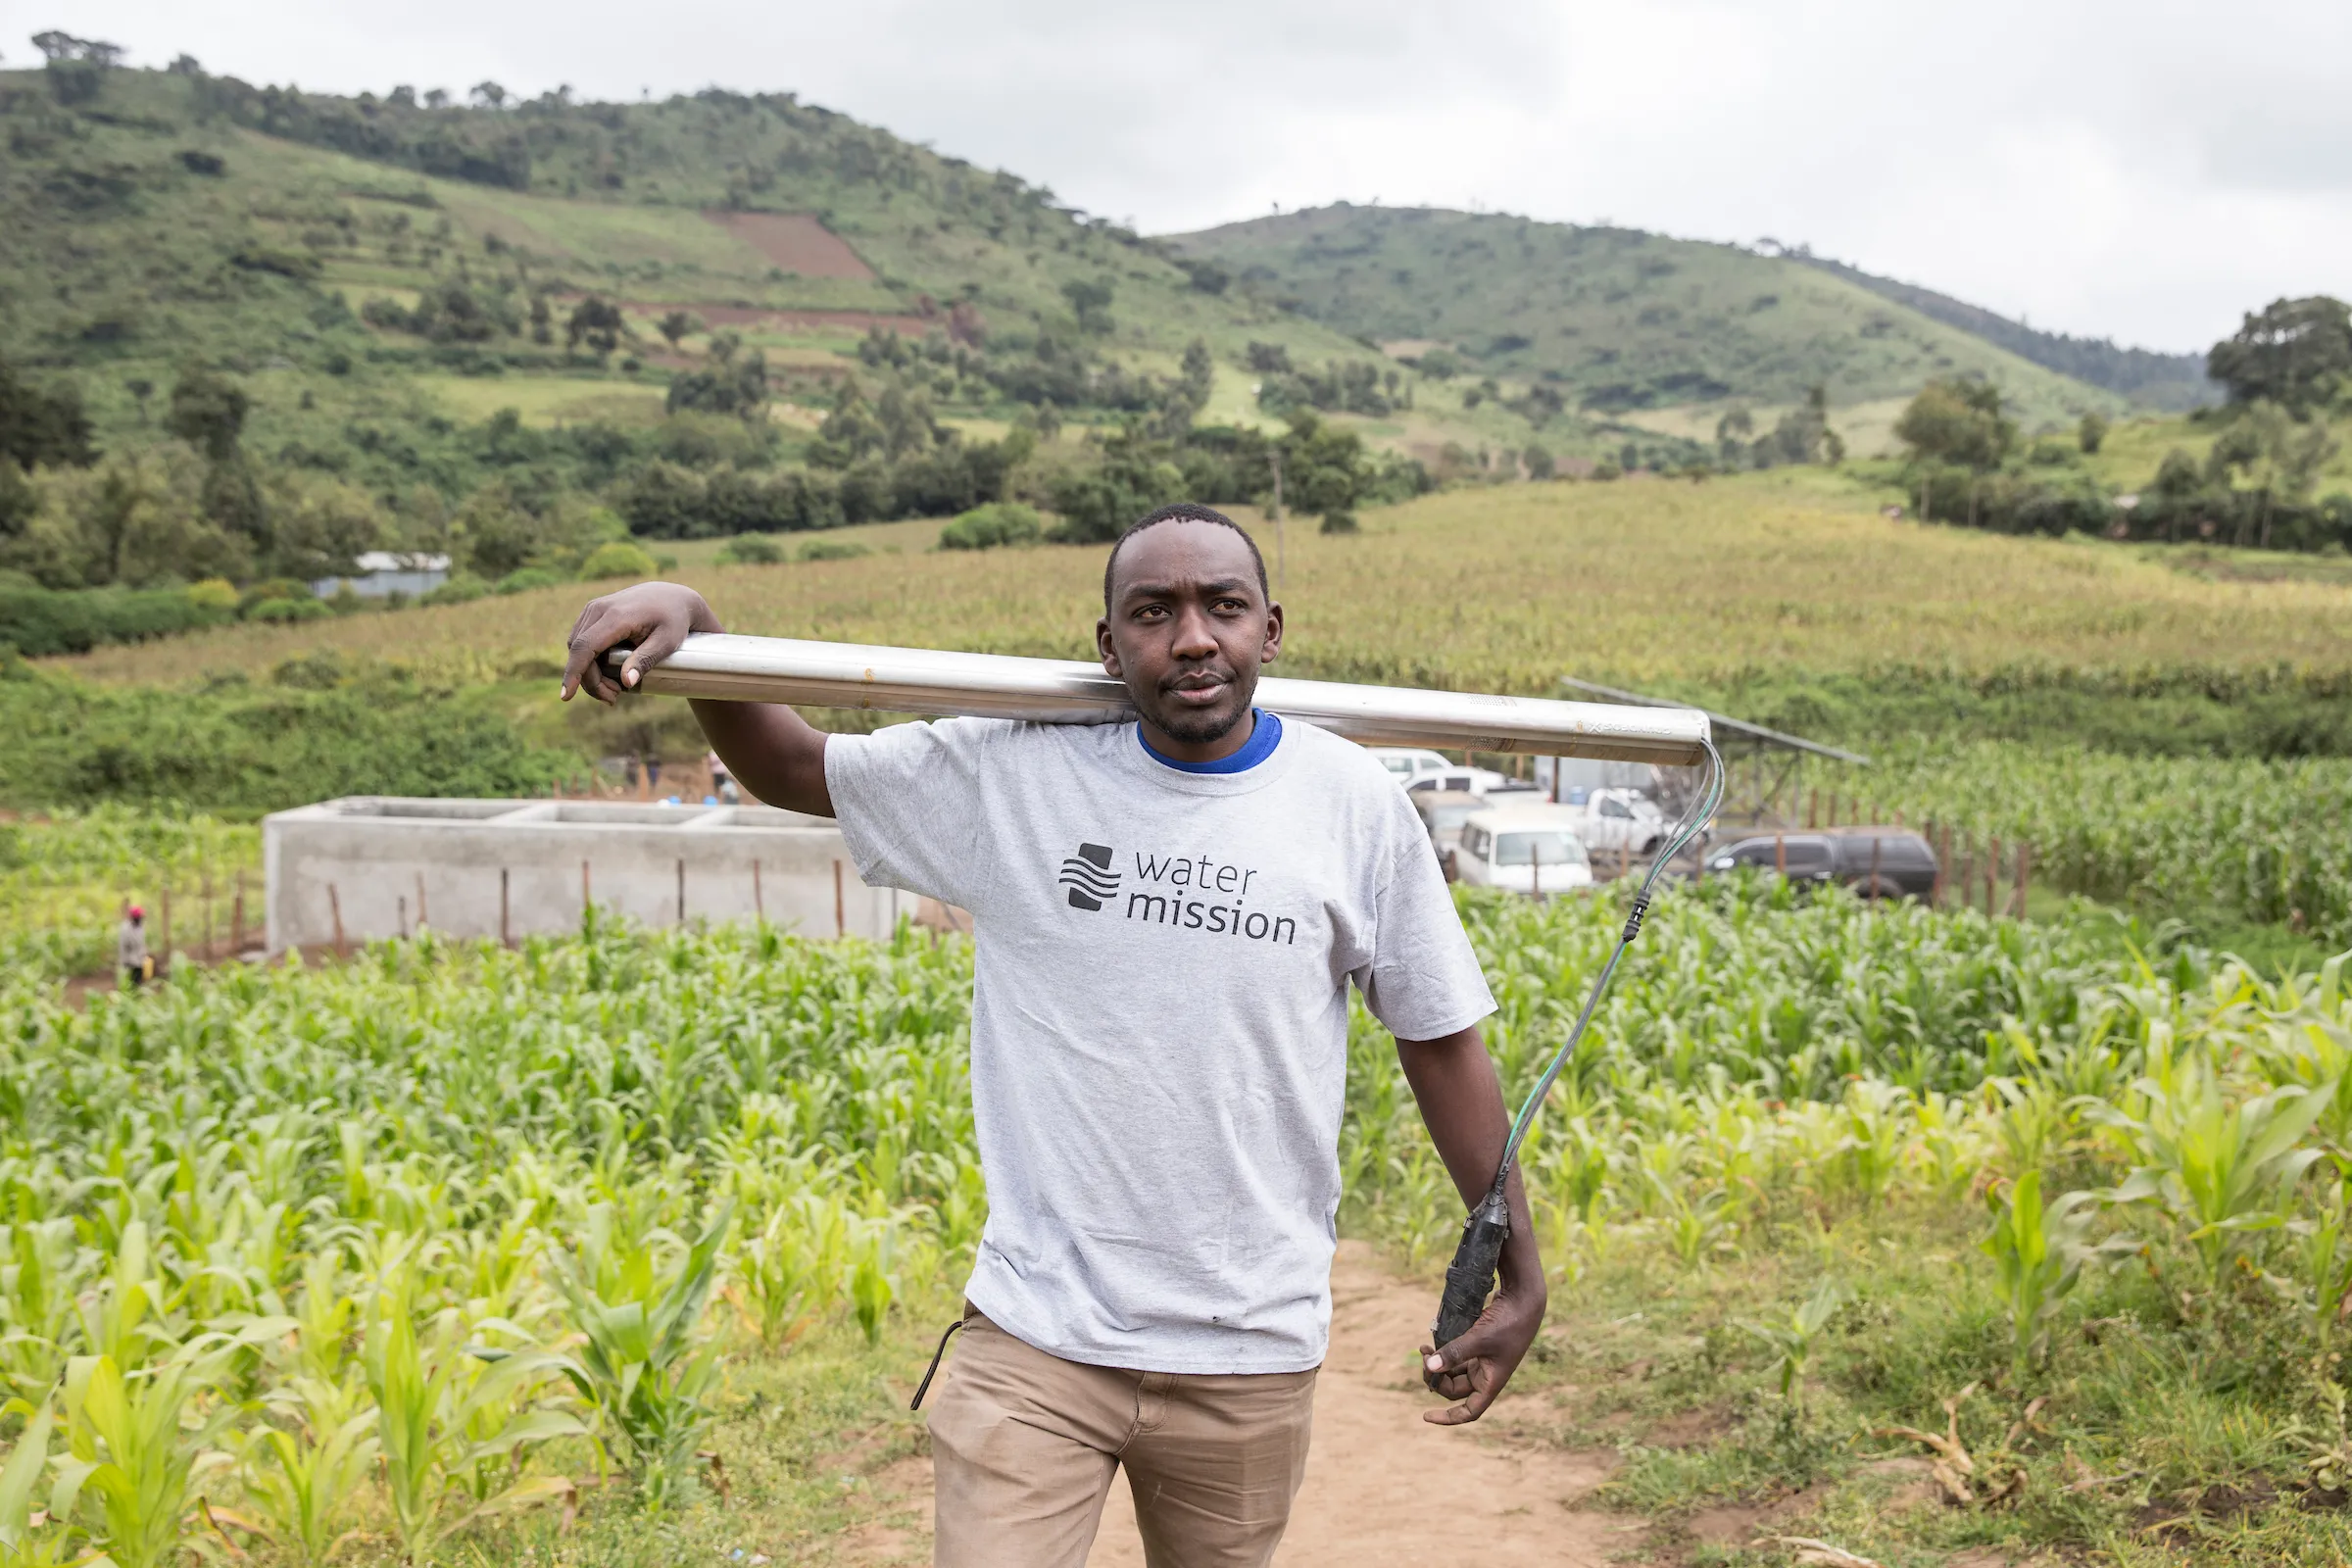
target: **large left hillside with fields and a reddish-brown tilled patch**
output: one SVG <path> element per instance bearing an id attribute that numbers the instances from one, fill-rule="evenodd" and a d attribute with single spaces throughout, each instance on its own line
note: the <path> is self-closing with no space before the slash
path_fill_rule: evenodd
<path id="1" fill-rule="evenodd" d="M 668 310 L 739 331 L 816 404 L 873 327 L 953 341 L 967 369 L 1051 360 L 1058 381 L 1030 402 L 1080 416 L 1174 371 L 1192 339 L 1218 360 L 1211 416 L 1249 411 L 1249 341 L 1374 357 L 1197 287 L 1049 190 L 790 94 L 426 108 L 118 68 L 68 103 L 9 71 L 0 134 L 0 353 L 73 376 L 101 447 L 143 440 L 139 383 L 153 395 L 205 362 L 247 378 L 263 451 L 449 487 L 463 461 L 445 425 L 499 407 L 659 418 L 708 348 L 706 331 L 666 343 Z M 567 341 L 588 294 L 623 310 L 616 355 Z M 1002 418 L 1021 402 L 1007 381 L 950 378 L 938 407 Z M 355 437 L 355 421 L 400 435 Z M 383 461 L 397 444 L 416 461 Z"/>

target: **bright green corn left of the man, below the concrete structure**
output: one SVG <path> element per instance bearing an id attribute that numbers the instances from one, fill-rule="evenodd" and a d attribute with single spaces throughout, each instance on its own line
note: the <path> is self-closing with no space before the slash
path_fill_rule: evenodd
<path id="1" fill-rule="evenodd" d="M 722 1349 L 877 1338 L 978 1237 L 967 997 L 953 943 L 595 922 L 12 983 L 0 1547 L 437 1561 L 583 1472 L 691 1495 Z"/>

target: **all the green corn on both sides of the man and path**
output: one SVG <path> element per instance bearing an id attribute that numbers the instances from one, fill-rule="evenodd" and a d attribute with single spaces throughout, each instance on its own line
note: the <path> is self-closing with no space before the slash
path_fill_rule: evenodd
<path id="1" fill-rule="evenodd" d="M 1623 914 L 1465 917 L 1517 1093 Z M 880 1340 L 960 1281 L 985 1218 L 969 983 L 967 943 L 910 929 L 595 917 L 515 950 L 428 933 L 191 969 L 80 1011 L 12 976 L 0 1549 L 480 1561 L 597 1476 L 694 1507 L 731 1361 L 818 1326 Z M 2333 1324 L 2352 1246 L 2314 1251 L 2343 1199 L 2312 1166 L 2347 1135 L 2336 966 L 2263 983 L 2136 959 L 2098 922 L 1717 879 L 1661 900 L 1526 1168 L 1562 1284 L 1992 1192 L 1983 1267 L 2030 1366 L 2074 1276 L 2037 1260 L 2126 1241 L 2201 1276 L 2260 1265 Z M 1362 1013 L 1341 1159 L 1345 1229 L 1444 1255 L 1461 1199 Z"/>

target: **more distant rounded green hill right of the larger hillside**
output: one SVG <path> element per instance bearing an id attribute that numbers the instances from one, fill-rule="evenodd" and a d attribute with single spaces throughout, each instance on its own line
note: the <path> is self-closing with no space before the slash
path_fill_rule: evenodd
<path id="1" fill-rule="evenodd" d="M 1444 343 L 1595 414 L 1684 404 L 1839 407 L 1976 374 L 2032 425 L 2124 400 L 1778 256 L 1628 228 L 1416 207 L 1322 207 L 1169 244 L 1265 299 L 1397 353 Z"/>

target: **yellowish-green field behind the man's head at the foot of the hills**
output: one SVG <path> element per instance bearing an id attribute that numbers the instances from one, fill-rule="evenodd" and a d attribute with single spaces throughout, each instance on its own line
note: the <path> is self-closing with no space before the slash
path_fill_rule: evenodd
<path id="1" fill-rule="evenodd" d="M 891 527 L 901 545 L 927 531 Z M 1098 548 L 924 550 L 682 571 L 746 632 L 1082 658 L 1101 562 Z M 1872 491 L 1813 470 L 1446 491 L 1364 512 L 1355 538 L 1294 522 L 1284 576 L 1287 672 L 1522 693 L 1571 672 L 1705 686 L 1891 665 L 2343 670 L 2352 635 L 2352 590 L 2333 583 L 2216 583 L 2096 541 L 1886 522 Z M 176 642 L 174 668 L 259 672 L 332 646 L 503 670 L 555 658 L 588 592 L 221 628 Z M 141 649 L 56 663 L 155 675 Z"/>

